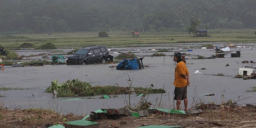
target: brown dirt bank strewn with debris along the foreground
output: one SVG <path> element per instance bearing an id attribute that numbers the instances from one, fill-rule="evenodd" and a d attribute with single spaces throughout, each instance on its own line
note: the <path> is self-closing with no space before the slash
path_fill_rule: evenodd
<path id="1" fill-rule="evenodd" d="M 50 126 L 79 120 L 82 116 L 57 115 L 44 111 L 0 110 L 1 128 L 36 128 L 49 123 Z M 100 128 L 136 128 L 143 125 L 183 125 L 186 128 L 255 128 L 256 107 L 222 107 L 203 110 L 198 115 L 177 117 L 151 114 L 147 117 L 122 116 L 118 119 L 95 120 Z M 38 127 L 37 127 L 38 128 Z M 40 127 L 41 128 L 41 127 Z"/>

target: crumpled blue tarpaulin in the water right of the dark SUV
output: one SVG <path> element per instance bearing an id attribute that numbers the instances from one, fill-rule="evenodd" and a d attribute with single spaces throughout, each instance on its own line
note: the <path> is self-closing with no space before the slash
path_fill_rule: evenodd
<path id="1" fill-rule="evenodd" d="M 137 59 L 134 58 L 132 60 L 123 60 L 117 65 L 117 70 L 138 70 L 139 64 Z"/>

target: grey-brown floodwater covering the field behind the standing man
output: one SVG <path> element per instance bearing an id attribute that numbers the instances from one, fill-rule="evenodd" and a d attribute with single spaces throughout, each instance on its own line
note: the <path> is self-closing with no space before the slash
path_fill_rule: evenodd
<path id="1" fill-rule="evenodd" d="M 215 43 L 217 45 L 226 45 Z M 239 45 L 239 44 L 236 44 Z M 94 96 L 92 99 L 83 99 L 83 97 L 59 97 L 53 98 L 52 94 L 45 93 L 45 88 L 50 86 L 51 81 L 58 79 L 58 83 L 64 83 L 70 79 L 79 79 L 90 82 L 92 86 L 100 85 L 119 85 L 129 86 L 127 80 L 132 79 L 134 87 L 149 87 L 154 84 L 154 88 L 164 88 L 164 94 L 150 94 L 148 101 L 152 102 L 151 107 L 160 105 L 162 108 L 173 108 L 173 81 L 175 63 L 170 55 L 175 51 L 181 53 L 203 55 L 210 57 L 215 53 L 214 49 L 192 49 L 192 52 L 182 50 L 189 49 L 193 44 L 175 46 L 152 46 L 152 47 L 129 47 L 114 48 L 110 47 L 110 55 L 117 56 L 115 52 L 134 52 L 139 57 L 144 57 L 143 64 L 147 65 L 141 70 L 116 70 L 109 66 L 117 64 L 91 64 L 91 65 L 45 65 L 30 67 L 12 67 L 5 66 L 5 70 L 0 71 L 0 86 L 18 87 L 24 90 L 0 91 L 0 104 L 10 109 L 25 108 L 45 108 L 53 109 L 61 113 L 75 113 L 84 115 L 97 109 L 120 108 L 126 105 L 128 96 L 118 95 L 116 98 L 98 99 L 100 96 Z M 241 44 L 246 46 L 241 48 L 241 57 L 238 58 L 215 58 L 195 60 L 191 56 L 186 56 L 188 70 L 190 71 L 190 83 L 188 87 L 188 107 L 193 107 L 196 103 L 215 102 L 220 104 L 223 101 L 232 100 L 239 105 L 256 104 L 256 92 L 246 92 L 251 87 L 256 86 L 256 79 L 238 79 L 233 78 L 238 74 L 238 68 L 253 66 L 253 63 L 241 63 L 243 60 L 256 61 L 256 47 L 254 44 Z M 249 49 L 252 47 L 252 49 Z M 173 52 L 164 52 L 165 57 L 151 57 L 154 50 L 150 49 L 174 49 Z M 71 49 L 70 49 L 71 50 Z M 231 51 L 238 50 L 230 48 Z M 68 51 L 68 50 L 65 50 Z M 29 53 L 28 53 L 29 52 Z M 41 53 L 45 51 L 41 51 Z M 35 55 L 38 51 L 17 51 L 19 55 Z M 65 55 L 66 57 L 67 55 Z M 42 56 L 37 56 L 41 58 Z M 49 56 L 49 58 L 51 58 Z M 230 66 L 225 66 L 227 63 Z M 201 70 L 206 68 L 206 70 Z M 194 73 L 196 70 L 202 73 Z M 214 76 L 222 73 L 225 76 Z M 29 89 L 26 89 L 29 88 Z M 214 96 L 200 96 L 201 94 L 211 93 Z M 198 96 L 197 96 L 198 95 Z M 86 97 L 88 98 L 88 97 Z M 141 97 L 131 95 L 132 105 L 136 104 Z M 67 100 L 83 99 L 83 100 Z M 161 101 L 160 101 L 161 99 Z M 154 106 L 157 105 L 157 106 Z M 183 104 L 182 104 L 183 106 Z"/>

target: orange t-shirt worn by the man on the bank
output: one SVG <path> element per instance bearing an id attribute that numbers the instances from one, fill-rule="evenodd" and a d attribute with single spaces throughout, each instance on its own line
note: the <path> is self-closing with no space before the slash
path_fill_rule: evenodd
<path id="1" fill-rule="evenodd" d="M 183 61 L 180 61 L 177 63 L 175 68 L 175 79 L 174 79 L 174 86 L 175 87 L 185 87 L 188 85 L 188 81 L 183 78 L 182 74 L 188 74 L 188 68 L 186 67 L 186 64 Z"/>

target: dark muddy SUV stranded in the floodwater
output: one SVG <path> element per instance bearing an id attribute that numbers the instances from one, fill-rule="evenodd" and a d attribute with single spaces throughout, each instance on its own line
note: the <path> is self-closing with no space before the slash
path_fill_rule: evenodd
<path id="1" fill-rule="evenodd" d="M 87 46 L 78 49 L 73 55 L 66 57 L 67 65 L 86 65 L 89 63 L 106 63 L 113 61 L 113 56 L 105 46 Z"/>

